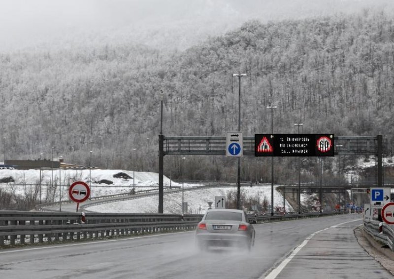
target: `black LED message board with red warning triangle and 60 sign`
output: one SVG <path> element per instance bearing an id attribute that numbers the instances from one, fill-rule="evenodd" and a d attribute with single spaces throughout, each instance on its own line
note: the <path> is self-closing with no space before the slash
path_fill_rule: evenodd
<path id="1" fill-rule="evenodd" d="M 255 156 L 334 156 L 334 135 L 255 134 Z"/>

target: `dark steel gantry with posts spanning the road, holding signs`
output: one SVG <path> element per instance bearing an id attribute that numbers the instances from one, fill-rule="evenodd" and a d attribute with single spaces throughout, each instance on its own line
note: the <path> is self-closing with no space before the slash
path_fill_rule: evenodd
<path id="1" fill-rule="evenodd" d="M 383 136 L 335 137 L 335 155 L 377 156 L 377 186 L 383 187 Z M 163 213 L 164 155 L 226 155 L 226 137 L 159 135 L 159 213 Z M 255 138 L 243 137 L 243 155 L 255 156 Z"/>

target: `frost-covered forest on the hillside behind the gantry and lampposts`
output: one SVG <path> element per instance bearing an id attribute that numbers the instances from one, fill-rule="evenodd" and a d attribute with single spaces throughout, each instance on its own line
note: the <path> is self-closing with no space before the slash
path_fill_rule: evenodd
<path id="1" fill-rule="evenodd" d="M 68 163 L 88 165 L 93 151 L 96 167 L 158 171 L 160 90 L 165 136 L 223 137 L 238 125 L 238 78 L 232 74 L 246 73 L 244 136 L 270 133 L 266 106 L 275 105 L 274 133 L 297 133 L 294 123 L 303 123 L 305 134 L 384 135 L 390 148 L 393 69 L 393 17 L 367 9 L 352 16 L 251 20 L 185 50 L 108 43 L 2 52 L 0 146 L 7 160 L 36 159 L 40 153 L 51 159 L 53 146 L 55 158 L 62 155 Z M 304 167 L 312 169 L 313 160 Z M 166 157 L 164 174 L 229 180 L 235 173 L 231 158 L 185 161 L 181 170 L 181 158 Z M 270 161 L 243 162 L 242 180 L 256 175 L 270 181 L 263 167 Z M 277 162 L 276 179 L 284 182 L 296 161 Z"/>

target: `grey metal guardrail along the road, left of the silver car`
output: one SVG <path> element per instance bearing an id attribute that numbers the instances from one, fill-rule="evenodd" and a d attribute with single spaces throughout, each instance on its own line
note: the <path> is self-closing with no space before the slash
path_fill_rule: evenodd
<path id="1" fill-rule="evenodd" d="M 202 215 L 0 211 L 0 247 L 195 229 Z"/>

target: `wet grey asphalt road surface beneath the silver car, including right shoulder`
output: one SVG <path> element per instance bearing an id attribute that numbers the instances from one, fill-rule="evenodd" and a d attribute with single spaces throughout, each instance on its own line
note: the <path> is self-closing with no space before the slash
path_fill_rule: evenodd
<path id="1" fill-rule="evenodd" d="M 108 241 L 0 251 L 0 278 L 260 279 L 314 235 L 271 278 L 393 278 L 358 244 L 360 215 L 255 225 L 251 252 L 200 253 L 194 233 L 171 233 Z M 275 270 L 278 272 L 278 270 Z"/>

